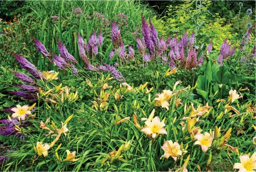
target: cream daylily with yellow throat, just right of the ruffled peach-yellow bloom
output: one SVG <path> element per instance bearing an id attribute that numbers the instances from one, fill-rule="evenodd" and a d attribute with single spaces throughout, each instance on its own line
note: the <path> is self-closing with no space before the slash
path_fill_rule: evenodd
<path id="1" fill-rule="evenodd" d="M 197 140 L 195 141 L 195 145 L 200 145 L 203 152 L 206 152 L 208 150 L 213 140 L 211 135 L 207 132 L 205 132 L 205 135 L 196 134 L 194 138 Z"/>

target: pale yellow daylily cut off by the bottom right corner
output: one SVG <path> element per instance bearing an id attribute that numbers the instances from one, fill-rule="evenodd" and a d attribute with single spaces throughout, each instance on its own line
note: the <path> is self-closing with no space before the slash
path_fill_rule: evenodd
<path id="1" fill-rule="evenodd" d="M 256 169 L 256 152 L 252 154 L 252 156 L 242 155 L 239 156 L 241 163 L 235 163 L 235 169 L 239 169 L 239 172 L 254 172 Z"/>

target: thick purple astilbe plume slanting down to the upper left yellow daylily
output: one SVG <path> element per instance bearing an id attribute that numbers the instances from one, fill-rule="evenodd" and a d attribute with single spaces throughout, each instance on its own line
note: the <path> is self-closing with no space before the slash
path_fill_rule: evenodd
<path id="1" fill-rule="evenodd" d="M 16 60 L 20 63 L 23 69 L 31 73 L 34 78 L 40 79 L 41 72 L 32 63 L 28 62 L 28 60 L 25 57 L 19 54 L 14 55 L 16 57 Z"/>

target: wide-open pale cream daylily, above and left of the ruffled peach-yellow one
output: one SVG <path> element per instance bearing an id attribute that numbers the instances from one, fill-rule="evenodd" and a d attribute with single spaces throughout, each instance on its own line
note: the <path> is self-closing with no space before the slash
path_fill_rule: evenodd
<path id="1" fill-rule="evenodd" d="M 167 135 L 167 131 L 164 128 L 162 128 L 163 126 L 165 126 L 165 124 L 164 124 L 164 122 L 160 122 L 160 119 L 158 116 L 153 118 L 152 122 L 150 120 L 146 120 L 145 124 L 147 126 L 144 127 L 140 131 L 146 135 L 149 135 L 149 136 L 152 135 L 153 139 L 156 137 L 156 134 L 166 134 Z"/>

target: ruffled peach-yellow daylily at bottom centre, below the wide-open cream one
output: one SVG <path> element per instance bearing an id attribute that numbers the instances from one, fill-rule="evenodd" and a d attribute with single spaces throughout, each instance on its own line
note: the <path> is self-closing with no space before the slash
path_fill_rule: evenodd
<path id="1" fill-rule="evenodd" d="M 177 161 L 178 156 L 182 156 L 182 151 L 180 150 L 180 145 L 177 142 L 173 141 L 165 141 L 163 146 L 161 148 L 164 150 L 164 155 L 161 156 L 168 159 L 170 156 L 174 159 L 174 161 Z M 160 158 L 160 159 L 161 159 Z"/>

